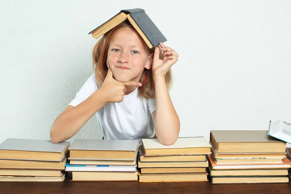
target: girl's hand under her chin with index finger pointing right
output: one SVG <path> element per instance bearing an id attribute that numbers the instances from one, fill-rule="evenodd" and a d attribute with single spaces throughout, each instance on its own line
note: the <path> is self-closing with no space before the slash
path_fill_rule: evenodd
<path id="1" fill-rule="evenodd" d="M 128 81 L 120 82 L 113 78 L 113 73 L 110 67 L 108 68 L 107 76 L 99 90 L 104 90 L 107 102 L 121 102 L 125 95 L 126 86 L 142 86 L 140 82 Z"/>

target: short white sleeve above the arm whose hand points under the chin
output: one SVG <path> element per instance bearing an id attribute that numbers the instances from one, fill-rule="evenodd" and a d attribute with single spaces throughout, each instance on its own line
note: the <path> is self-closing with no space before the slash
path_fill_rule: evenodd
<path id="1" fill-rule="evenodd" d="M 80 91 L 76 94 L 76 97 L 69 103 L 71 106 L 77 106 L 85 99 L 90 97 L 99 88 L 95 73 L 88 78 L 88 80 L 83 84 Z"/>

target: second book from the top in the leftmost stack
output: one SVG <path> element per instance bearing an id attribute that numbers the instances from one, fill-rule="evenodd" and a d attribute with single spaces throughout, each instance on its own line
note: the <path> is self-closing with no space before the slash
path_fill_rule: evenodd
<path id="1" fill-rule="evenodd" d="M 65 170 L 66 162 L 67 162 L 66 157 L 61 162 L 0 160 L 0 168 Z"/>

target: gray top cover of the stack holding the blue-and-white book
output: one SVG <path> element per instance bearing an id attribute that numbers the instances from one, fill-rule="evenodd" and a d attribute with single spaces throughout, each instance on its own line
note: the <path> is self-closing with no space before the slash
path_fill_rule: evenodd
<path id="1" fill-rule="evenodd" d="M 76 139 L 69 150 L 136 151 L 138 140 Z"/>

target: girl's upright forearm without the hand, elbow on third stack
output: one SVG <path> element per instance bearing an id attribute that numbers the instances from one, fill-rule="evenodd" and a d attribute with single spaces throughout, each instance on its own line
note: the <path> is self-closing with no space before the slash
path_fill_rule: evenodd
<path id="1" fill-rule="evenodd" d="M 164 77 L 156 77 L 156 113 L 154 126 L 156 135 L 164 145 L 176 142 L 180 131 L 180 120 L 168 92 Z"/>

